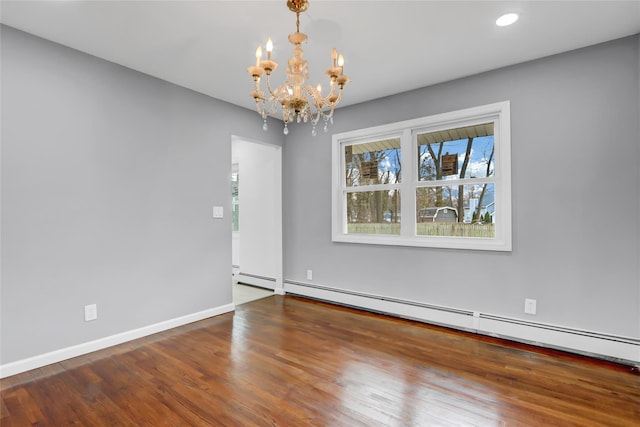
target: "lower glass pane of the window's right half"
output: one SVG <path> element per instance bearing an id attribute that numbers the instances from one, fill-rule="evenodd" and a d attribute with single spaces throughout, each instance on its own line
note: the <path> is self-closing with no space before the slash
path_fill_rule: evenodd
<path id="1" fill-rule="evenodd" d="M 492 183 L 416 190 L 416 234 L 419 236 L 495 237 L 494 213 L 495 184 Z"/>

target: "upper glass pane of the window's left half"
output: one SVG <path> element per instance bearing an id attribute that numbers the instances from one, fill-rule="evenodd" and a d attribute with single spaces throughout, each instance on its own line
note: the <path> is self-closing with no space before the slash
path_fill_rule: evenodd
<path id="1" fill-rule="evenodd" d="M 396 184 L 401 180 L 400 138 L 344 147 L 347 187 Z"/>

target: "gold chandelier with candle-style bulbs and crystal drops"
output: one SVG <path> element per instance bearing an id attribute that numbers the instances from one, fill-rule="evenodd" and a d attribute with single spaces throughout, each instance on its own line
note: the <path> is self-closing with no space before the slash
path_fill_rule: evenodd
<path id="1" fill-rule="evenodd" d="M 331 52 L 331 68 L 325 71 L 331 81 L 331 89 L 326 95 L 322 94 L 322 87 L 318 84 L 313 87 L 305 84 L 309 78 L 308 62 L 303 59 L 304 52 L 300 45 L 307 41 L 307 35 L 300 32 L 300 13 L 309 7 L 308 0 L 288 0 L 289 10 L 296 14 L 296 32 L 289 34 L 289 42 L 295 47 L 293 56 L 287 63 L 287 81 L 280 86 L 271 86 L 271 73 L 278 68 L 278 64 L 271 59 L 273 43 L 271 38 L 267 41 L 267 59 L 262 60 L 262 47 L 256 49 L 256 65 L 247 68 L 249 75 L 253 77 L 255 88 L 251 96 L 256 101 L 256 110 L 262 116 L 264 124 L 262 129 L 267 130 L 267 117 L 274 115 L 278 109 L 282 110 L 284 122 L 284 134 L 289 133 L 287 125 L 300 122 L 311 122 L 312 135 L 316 135 L 316 126 L 320 119 L 324 121 L 324 131 L 327 131 L 328 122 L 333 123 L 333 110 L 342 98 L 342 89 L 349 83 L 349 77 L 343 74 L 344 58 L 338 55 L 334 48 Z M 266 74 L 266 78 L 262 76 Z M 262 90 L 262 81 L 266 81 L 266 90 Z"/>

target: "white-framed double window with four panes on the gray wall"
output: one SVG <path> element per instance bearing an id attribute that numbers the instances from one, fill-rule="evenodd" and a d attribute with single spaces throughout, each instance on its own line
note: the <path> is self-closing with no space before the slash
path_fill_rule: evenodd
<path id="1" fill-rule="evenodd" d="M 509 102 L 333 136 L 333 240 L 511 250 Z"/>

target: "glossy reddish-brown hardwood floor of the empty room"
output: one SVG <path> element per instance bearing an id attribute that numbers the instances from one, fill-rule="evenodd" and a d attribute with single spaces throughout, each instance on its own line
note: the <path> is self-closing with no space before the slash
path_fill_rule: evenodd
<path id="1" fill-rule="evenodd" d="M 638 426 L 628 366 L 291 296 L 5 378 L 9 426 Z"/>

